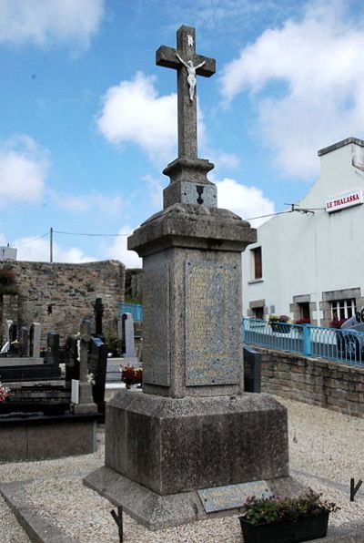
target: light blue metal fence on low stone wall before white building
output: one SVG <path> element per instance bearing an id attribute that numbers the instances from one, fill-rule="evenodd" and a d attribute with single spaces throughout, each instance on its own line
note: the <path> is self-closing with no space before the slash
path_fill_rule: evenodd
<path id="1" fill-rule="evenodd" d="M 349 328 L 337 330 L 310 324 L 268 323 L 243 318 L 243 340 L 244 343 L 280 351 L 364 365 L 364 333 Z"/>

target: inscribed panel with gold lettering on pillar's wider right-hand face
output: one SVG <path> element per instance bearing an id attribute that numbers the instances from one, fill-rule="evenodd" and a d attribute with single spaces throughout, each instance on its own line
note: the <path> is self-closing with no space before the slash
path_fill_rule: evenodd
<path id="1" fill-rule="evenodd" d="M 186 385 L 238 384 L 238 266 L 186 263 Z"/>

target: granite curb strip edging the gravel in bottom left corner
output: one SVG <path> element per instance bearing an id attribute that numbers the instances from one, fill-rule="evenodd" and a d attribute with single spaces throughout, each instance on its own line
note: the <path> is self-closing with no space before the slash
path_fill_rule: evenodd
<path id="1" fill-rule="evenodd" d="M 76 543 L 51 519 L 42 517 L 41 511 L 28 505 L 25 485 L 30 481 L 0 484 L 0 494 L 15 514 L 16 520 L 35 543 Z"/>

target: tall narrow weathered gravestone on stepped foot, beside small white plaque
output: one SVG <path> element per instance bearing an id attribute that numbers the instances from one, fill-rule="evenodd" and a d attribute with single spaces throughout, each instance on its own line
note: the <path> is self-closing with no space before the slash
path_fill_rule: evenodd
<path id="1" fill-rule="evenodd" d="M 76 415 L 92 414 L 97 412 L 97 405 L 92 397 L 92 387 L 88 382 L 88 348 L 91 339 L 91 322 L 84 319 L 81 323 L 80 338 L 80 375 L 78 404 L 73 405 L 73 412 Z"/>

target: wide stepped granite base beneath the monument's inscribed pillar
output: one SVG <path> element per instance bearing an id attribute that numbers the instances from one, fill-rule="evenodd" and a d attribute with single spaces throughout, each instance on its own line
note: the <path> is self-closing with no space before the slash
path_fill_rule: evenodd
<path id="1" fill-rule="evenodd" d="M 123 390 L 106 406 L 106 466 L 84 483 L 159 529 L 298 496 L 287 410 L 268 394 L 166 398 Z"/>

